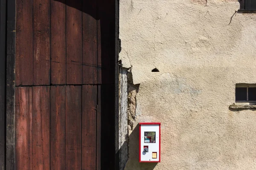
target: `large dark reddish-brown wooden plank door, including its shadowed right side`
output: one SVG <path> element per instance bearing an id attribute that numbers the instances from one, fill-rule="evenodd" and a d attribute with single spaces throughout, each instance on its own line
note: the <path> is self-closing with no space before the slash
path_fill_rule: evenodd
<path id="1" fill-rule="evenodd" d="M 114 169 L 115 0 L 17 0 L 17 170 Z"/>

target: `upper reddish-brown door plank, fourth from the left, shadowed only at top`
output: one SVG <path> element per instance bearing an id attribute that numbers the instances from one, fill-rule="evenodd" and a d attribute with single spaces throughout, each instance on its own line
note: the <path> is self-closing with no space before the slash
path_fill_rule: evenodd
<path id="1" fill-rule="evenodd" d="M 82 84 L 82 3 L 67 0 L 67 84 Z"/>

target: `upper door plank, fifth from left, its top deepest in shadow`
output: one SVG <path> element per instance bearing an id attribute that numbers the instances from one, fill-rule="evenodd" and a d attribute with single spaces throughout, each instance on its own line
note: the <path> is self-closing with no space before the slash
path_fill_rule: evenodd
<path id="1" fill-rule="evenodd" d="M 83 84 L 97 84 L 97 1 L 83 1 Z"/>

